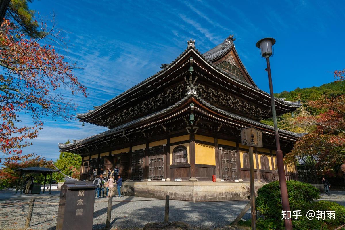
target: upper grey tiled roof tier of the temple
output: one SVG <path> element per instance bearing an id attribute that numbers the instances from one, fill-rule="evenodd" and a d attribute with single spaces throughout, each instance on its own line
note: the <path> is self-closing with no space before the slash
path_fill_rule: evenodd
<path id="1" fill-rule="evenodd" d="M 223 44 L 223 43 L 221 43 L 221 44 Z M 145 88 L 145 87 L 147 88 L 148 87 L 146 85 L 147 83 L 154 81 L 155 78 L 157 78 L 157 77 L 161 76 L 162 74 L 166 73 L 171 68 L 174 68 L 176 63 L 180 59 L 182 59 L 183 57 L 188 55 L 190 52 L 197 54 L 197 56 L 200 57 L 202 60 L 204 60 L 211 68 L 215 69 L 217 72 L 219 72 L 220 74 L 222 74 L 223 76 L 225 76 L 229 80 L 239 83 L 240 85 L 242 85 L 246 89 L 249 89 L 251 91 L 256 91 L 256 92 L 258 92 L 260 94 L 263 94 L 265 97 L 267 97 L 267 100 L 270 101 L 269 93 L 267 93 L 267 92 L 257 88 L 255 85 L 249 84 L 246 81 L 238 79 L 234 74 L 228 73 L 225 70 L 220 69 L 214 63 L 211 62 L 211 60 L 213 60 L 213 58 L 215 58 L 216 56 L 218 57 L 219 55 L 224 55 L 223 52 L 227 52 L 232 46 L 234 46 L 234 45 L 233 44 L 230 45 L 230 43 L 229 43 L 229 45 L 226 46 L 226 49 L 224 49 L 226 51 L 220 50 L 220 48 L 217 46 L 217 47 L 207 51 L 204 55 L 201 54 L 194 47 L 188 47 L 183 53 L 181 53 L 170 64 L 166 65 L 165 68 L 162 69 L 161 71 L 157 72 L 156 74 L 152 75 L 151 77 L 147 78 L 146 80 L 136 84 L 134 87 L 132 87 L 132 88 L 126 90 L 125 92 L 119 94 L 115 98 L 112 98 L 111 100 L 103 103 L 101 106 L 98 106 L 96 109 L 93 109 L 93 110 L 91 110 L 91 111 L 89 111 L 87 113 L 79 113 L 79 114 L 77 114 L 77 118 L 79 118 L 80 121 L 89 122 L 90 116 L 94 117 L 94 116 L 96 116 L 97 113 L 101 113 L 102 114 L 105 110 L 108 110 L 112 106 L 112 104 L 120 102 L 120 101 L 123 101 L 127 97 L 127 95 L 130 95 L 130 93 L 133 92 L 134 90 L 137 90 L 140 87 L 141 88 Z M 235 52 L 236 52 L 236 49 L 235 49 Z M 248 76 L 249 76 L 249 74 L 248 74 Z M 285 101 L 283 99 L 278 99 L 278 98 L 275 98 L 275 101 L 278 102 L 278 103 L 284 104 L 286 106 L 294 107 L 295 109 L 300 106 L 299 102 L 290 102 L 290 101 Z M 92 123 L 92 122 L 90 122 L 90 123 Z"/>

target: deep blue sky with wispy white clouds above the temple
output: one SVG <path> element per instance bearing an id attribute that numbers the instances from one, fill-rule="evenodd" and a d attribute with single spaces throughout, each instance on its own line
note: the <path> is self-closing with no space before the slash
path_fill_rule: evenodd
<path id="1" fill-rule="evenodd" d="M 235 47 L 257 86 L 268 91 L 266 62 L 255 43 L 276 39 L 270 59 L 274 91 L 319 86 L 345 68 L 343 1 L 49 1 L 30 8 L 42 16 L 55 12 L 57 29 L 69 40 L 68 56 L 88 88 L 76 96 L 78 113 L 86 112 L 134 86 L 170 63 L 196 40 L 204 53 L 234 34 Z M 23 118 L 24 123 L 29 120 Z M 33 146 L 57 159 L 57 143 L 107 130 L 77 120 L 45 119 Z"/>

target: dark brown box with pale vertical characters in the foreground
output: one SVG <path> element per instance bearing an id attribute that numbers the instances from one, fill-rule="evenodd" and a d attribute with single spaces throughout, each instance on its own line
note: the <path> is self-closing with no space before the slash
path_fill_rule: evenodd
<path id="1" fill-rule="evenodd" d="M 95 190 L 91 181 L 71 181 L 61 186 L 56 230 L 92 230 Z"/>

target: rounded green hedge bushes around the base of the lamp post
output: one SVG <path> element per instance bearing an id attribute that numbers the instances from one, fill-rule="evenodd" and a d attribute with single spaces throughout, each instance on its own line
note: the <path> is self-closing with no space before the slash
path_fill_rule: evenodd
<path id="1" fill-rule="evenodd" d="M 335 229 L 345 223 L 345 207 L 329 201 L 314 201 L 319 196 L 319 190 L 310 184 L 299 181 L 286 181 L 289 196 L 291 215 L 293 210 L 302 210 L 297 220 L 292 218 L 293 229 L 309 230 Z M 284 220 L 282 219 L 282 202 L 280 200 L 279 181 L 265 184 L 258 190 L 256 198 L 256 210 L 258 211 L 257 228 L 264 230 L 284 229 Z M 309 210 L 315 212 L 335 211 L 335 220 L 308 220 L 306 213 Z"/>

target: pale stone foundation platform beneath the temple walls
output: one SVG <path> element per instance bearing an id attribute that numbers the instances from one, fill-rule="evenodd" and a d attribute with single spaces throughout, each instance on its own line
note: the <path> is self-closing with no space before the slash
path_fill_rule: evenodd
<path id="1" fill-rule="evenodd" d="M 255 191 L 266 183 L 256 182 Z M 249 182 L 145 181 L 122 182 L 126 196 L 186 201 L 230 201 L 250 198 Z M 117 194 L 117 191 L 116 191 Z"/>

